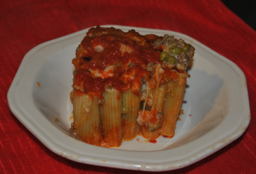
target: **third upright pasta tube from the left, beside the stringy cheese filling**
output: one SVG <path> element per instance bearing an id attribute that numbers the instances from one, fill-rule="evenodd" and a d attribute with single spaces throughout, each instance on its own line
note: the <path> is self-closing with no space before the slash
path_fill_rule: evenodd
<path id="1" fill-rule="evenodd" d="M 140 108 L 140 97 L 132 89 L 122 92 L 122 138 L 130 140 L 137 136 L 139 124 L 137 116 Z"/>

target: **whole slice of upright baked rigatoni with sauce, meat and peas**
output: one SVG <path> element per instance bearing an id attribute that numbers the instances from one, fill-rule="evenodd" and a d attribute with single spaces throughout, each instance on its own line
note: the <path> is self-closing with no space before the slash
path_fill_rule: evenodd
<path id="1" fill-rule="evenodd" d="M 75 131 L 85 143 L 118 147 L 138 134 L 175 134 L 195 48 L 174 36 L 90 28 L 72 60 Z"/>

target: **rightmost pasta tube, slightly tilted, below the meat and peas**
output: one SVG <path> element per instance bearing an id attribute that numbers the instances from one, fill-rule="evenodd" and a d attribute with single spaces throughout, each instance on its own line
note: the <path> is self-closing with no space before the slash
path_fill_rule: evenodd
<path id="1" fill-rule="evenodd" d="M 188 73 L 177 72 L 177 75 L 178 79 L 176 81 L 171 80 L 169 82 L 171 83 L 172 91 L 166 93 L 166 101 L 163 105 L 164 122 L 159 130 L 162 135 L 169 136 L 170 138 L 175 133 L 176 121 L 181 110 Z"/>

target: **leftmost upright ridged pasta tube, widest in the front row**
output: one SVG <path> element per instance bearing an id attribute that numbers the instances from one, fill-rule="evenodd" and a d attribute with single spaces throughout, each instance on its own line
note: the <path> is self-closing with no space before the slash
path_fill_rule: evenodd
<path id="1" fill-rule="evenodd" d="M 74 92 L 73 99 L 74 128 L 76 134 L 86 143 L 100 146 L 102 133 L 97 97 L 91 94 Z"/>

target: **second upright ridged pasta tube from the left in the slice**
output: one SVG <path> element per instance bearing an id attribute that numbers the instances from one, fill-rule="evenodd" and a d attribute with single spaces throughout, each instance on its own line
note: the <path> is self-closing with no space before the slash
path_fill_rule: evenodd
<path id="1" fill-rule="evenodd" d="M 105 146 L 120 146 L 122 143 L 122 101 L 117 89 L 105 89 L 105 98 L 100 113 Z"/>

